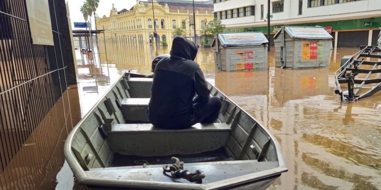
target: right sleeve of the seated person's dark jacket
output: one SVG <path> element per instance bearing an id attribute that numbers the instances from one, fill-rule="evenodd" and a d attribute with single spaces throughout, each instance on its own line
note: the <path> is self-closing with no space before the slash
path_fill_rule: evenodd
<path id="1" fill-rule="evenodd" d="M 194 98 L 194 103 L 196 102 L 206 102 L 209 100 L 210 90 L 208 89 L 207 81 L 205 81 L 204 73 L 202 73 L 201 68 L 197 68 L 195 72 L 195 90 L 197 96 Z"/>

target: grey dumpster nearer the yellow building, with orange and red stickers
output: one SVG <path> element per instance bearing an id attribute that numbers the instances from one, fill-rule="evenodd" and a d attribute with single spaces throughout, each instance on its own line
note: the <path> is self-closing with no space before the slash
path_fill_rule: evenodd
<path id="1" fill-rule="evenodd" d="M 262 32 L 219 33 L 213 40 L 218 70 L 267 69 L 269 41 Z"/>

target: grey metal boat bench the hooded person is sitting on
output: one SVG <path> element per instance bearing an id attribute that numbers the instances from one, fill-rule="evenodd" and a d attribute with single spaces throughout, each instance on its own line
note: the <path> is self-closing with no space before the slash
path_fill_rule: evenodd
<path id="1" fill-rule="evenodd" d="M 198 154 L 224 147 L 231 128 L 226 123 L 197 123 L 165 130 L 144 124 L 115 124 L 108 131 L 110 147 L 122 155 L 165 156 Z"/>

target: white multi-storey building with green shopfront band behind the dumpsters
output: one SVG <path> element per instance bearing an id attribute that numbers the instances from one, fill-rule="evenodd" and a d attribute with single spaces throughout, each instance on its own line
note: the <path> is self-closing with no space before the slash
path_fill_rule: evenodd
<path id="1" fill-rule="evenodd" d="M 230 30 L 267 33 L 267 0 L 214 0 L 213 3 L 214 17 Z M 381 27 L 381 1 L 271 0 L 270 19 L 272 35 L 282 25 L 319 25 L 331 33 L 338 47 L 375 45 Z"/>

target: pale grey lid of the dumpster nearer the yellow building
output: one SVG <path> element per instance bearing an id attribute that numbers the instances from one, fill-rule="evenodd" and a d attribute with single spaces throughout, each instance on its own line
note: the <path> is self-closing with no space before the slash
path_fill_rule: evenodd
<path id="1" fill-rule="evenodd" d="M 259 46 L 269 43 L 262 32 L 219 33 L 218 40 L 223 47 Z M 213 41 L 212 46 L 214 45 Z"/>

